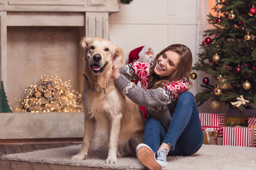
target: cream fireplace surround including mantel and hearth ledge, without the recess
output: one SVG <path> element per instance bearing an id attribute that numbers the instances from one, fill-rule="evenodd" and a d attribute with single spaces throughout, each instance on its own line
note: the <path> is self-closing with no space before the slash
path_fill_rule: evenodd
<path id="1" fill-rule="evenodd" d="M 109 12 L 118 11 L 118 0 L 0 0 L 0 78 L 7 96 L 8 26 L 75 26 L 81 38 L 109 39 Z M 83 113 L 0 113 L 0 129 L 0 139 L 83 137 Z"/>

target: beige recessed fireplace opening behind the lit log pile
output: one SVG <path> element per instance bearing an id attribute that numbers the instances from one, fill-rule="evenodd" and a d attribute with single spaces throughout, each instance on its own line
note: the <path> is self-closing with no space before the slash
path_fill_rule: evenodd
<path id="1" fill-rule="evenodd" d="M 24 89 L 41 76 L 69 81 L 71 90 L 82 92 L 83 26 L 8 26 L 7 94 L 15 107 Z"/>

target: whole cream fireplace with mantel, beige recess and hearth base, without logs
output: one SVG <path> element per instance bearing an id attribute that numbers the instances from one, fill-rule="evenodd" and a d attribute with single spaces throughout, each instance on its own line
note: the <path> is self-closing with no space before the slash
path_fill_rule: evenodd
<path id="1" fill-rule="evenodd" d="M 109 39 L 109 12 L 118 11 L 117 0 L 0 0 L 0 78 L 10 107 L 22 97 L 27 85 L 44 75 L 70 80 L 71 90 L 81 93 L 84 51 L 79 47 L 80 39 L 83 36 Z M 83 136 L 75 132 L 83 131 L 82 113 L 52 112 L 50 116 L 54 119 L 47 117 L 48 113 L 18 114 L 21 113 L 0 115 L 0 128 L 6 131 L 0 139 Z M 79 127 L 68 131 L 70 125 L 65 122 L 74 115 L 79 115 L 76 118 Z M 26 116 L 29 120 L 22 122 Z M 50 128 L 38 125 L 45 123 L 40 116 L 48 121 Z M 36 129 L 32 132 L 33 126 L 29 125 L 29 121 L 36 119 L 38 122 L 32 124 L 41 128 L 39 134 Z M 16 127 L 11 127 L 11 131 L 12 125 Z"/>

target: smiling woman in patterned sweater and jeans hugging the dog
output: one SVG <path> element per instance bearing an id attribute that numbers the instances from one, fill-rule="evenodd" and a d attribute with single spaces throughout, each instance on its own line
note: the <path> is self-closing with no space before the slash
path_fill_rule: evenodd
<path id="1" fill-rule="evenodd" d="M 148 119 L 143 144 L 136 148 L 139 161 L 149 169 L 166 167 L 166 156 L 192 155 L 203 144 L 196 100 L 188 90 L 192 54 L 181 44 L 170 45 L 151 63 L 113 68 L 115 85 L 134 103 L 145 106 Z M 129 80 L 138 79 L 141 87 Z"/>

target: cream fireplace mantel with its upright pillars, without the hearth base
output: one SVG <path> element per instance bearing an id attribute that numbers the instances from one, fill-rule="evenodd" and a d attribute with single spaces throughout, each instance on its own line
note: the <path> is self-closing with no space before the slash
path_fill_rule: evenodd
<path id="1" fill-rule="evenodd" d="M 0 78 L 5 92 L 8 26 L 83 26 L 83 36 L 109 39 L 109 12 L 118 11 L 117 0 L 0 0 Z"/>

